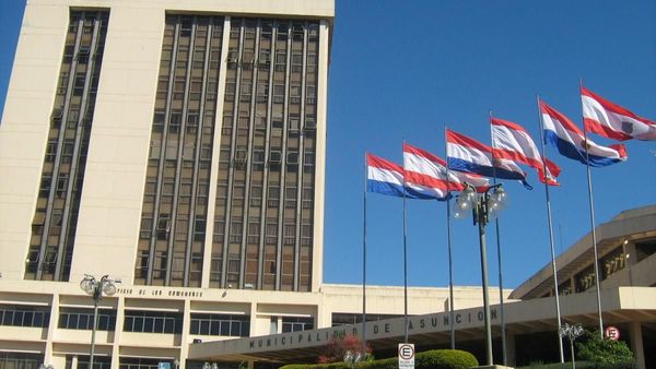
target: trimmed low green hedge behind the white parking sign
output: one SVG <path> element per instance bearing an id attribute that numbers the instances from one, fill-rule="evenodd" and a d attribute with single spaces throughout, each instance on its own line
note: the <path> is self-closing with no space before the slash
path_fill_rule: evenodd
<path id="1" fill-rule="evenodd" d="M 433 349 L 419 353 L 414 356 L 415 369 L 467 369 L 479 365 L 476 357 L 467 352 L 459 349 Z M 351 366 L 347 362 L 332 364 L 293 364 L 286 365 L 281 369 L 348 369 Z M 398 368 L 398 358 L 358 362 L 354 368 L 361 369 L 396 369 Z"/>

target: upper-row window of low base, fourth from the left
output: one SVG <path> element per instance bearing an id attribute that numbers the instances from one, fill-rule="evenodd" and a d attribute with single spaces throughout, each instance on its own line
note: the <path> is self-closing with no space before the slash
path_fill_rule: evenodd
<path id="1" fill-rule="evenodd" d="M 250 333 L 249 316 L 191 313 L 190 334 L 247 337 Z"/>

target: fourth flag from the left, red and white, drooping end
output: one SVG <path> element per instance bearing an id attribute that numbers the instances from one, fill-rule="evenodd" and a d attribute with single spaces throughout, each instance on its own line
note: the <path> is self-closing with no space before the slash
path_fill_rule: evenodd
<path id="1" fill-rule="evenodd" d="M 535 168 L 542 183 L 546 180 L 543 175 L 546 168 L 547 183 L 559 186 L 555 177 L 560 175 L 560 168 L 547 158 L 542 160 L 538 146 L 524 127 L 493 117 L 490 117 L 490 124 L 494 157 L 515 160 Z"/>

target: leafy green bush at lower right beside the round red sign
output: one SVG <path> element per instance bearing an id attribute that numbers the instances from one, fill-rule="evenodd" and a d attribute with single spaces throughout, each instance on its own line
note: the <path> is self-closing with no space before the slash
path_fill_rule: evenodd
<path id="1" fill-rule="evenodd" d="M 581 359 L 613 366 L 633 362 L 633 353 L 625 342 L 601 337 L 597 332 L 586 331 L 586 341 L 576 343 Z"/>

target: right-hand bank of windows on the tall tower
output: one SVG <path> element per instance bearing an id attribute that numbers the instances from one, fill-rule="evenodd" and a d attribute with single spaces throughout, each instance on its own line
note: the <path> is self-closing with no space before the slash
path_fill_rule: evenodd
<path id="1" fill-rule="evenodd" d="M 309 269 L 292 253 L 312 246 L 318 28 L 306 21 L 231 20 L 215 212 L 208 219 L 214 222 L 211 287 L 309 289 L 302 272 Z"/>

